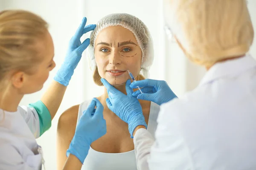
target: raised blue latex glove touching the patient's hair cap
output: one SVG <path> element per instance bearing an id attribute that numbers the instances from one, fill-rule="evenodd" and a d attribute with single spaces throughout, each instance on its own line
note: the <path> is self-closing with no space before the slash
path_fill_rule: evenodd
<path id="1" fill-rule="evenodd" d="M 84 40 L 83 43 L 81 43 L 80 38 L 83 34 L 87 33 L 88 31 L 94 30 L 96 27 L 95 24 L 84 27 L 86 21 L 87 19 L 86 17 L 84 17 L 82 23 L 76 31 L 76 34 L 71 38 L 64 62 L 54 77 L 55 81 L 59 82 L 64 86 L 67 86 L 69 84 L 74 70 L 81 59 L 82 53 L 90 44 L 89 38 Z"/>

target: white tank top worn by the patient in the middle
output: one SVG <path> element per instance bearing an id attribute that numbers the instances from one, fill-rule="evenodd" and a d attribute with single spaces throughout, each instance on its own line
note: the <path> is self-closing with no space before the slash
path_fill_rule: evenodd
<path id="1" fill-rule="evenodd" d="M 90 102 L 91 101 L 85 101 L 79 106 L 78 121 Z M 153 137 L 157 128 L 157 116 L 159 109 L 159 105 L 151 102 L 148 131 Z M 90 147 L 81 170 L 137 170 L 134 150 L 124 153 L 102 153 L 93 150 L 93 148 Z"/>

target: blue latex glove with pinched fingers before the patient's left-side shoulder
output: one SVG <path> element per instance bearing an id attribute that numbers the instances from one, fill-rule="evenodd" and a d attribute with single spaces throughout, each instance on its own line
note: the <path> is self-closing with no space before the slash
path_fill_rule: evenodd
<path id="1" fill-rule="evenodd" d="M 97 107 L 96 109 L 95 106 Z M 103 106 L 98 99 L 93 98 L 76 126 L 75 135 L 66 155 L 69 156 L 70 153 L 75 155 L 83 164 L 90 149 L 90 144 L 105 135 L 106 132 Z"/>

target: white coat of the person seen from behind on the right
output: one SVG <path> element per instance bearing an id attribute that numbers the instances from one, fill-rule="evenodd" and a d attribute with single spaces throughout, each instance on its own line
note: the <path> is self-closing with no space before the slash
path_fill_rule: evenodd
<path id="1" fill-rule="evenodd" d="M 256 170 L 256 61 L 215 64 L 157 123 L 155 141 L 145 129 L 134 136 L 139 170 Z"/>

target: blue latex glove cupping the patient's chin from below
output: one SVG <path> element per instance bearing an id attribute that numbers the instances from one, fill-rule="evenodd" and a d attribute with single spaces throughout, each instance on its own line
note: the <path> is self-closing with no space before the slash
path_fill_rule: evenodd
<path id="1" fill-rule="evenodd" d="M 125 85 L 127 95 L 114 88 L 106 79 L 101 79 L 101 82 L 108 90 L 109 98 L 106 99 L 108 108 L 128 124 L 131 138 L 135 127 L 143 125 L 147 128 L 140 102 L 132 96 L 134 91 L 130 87 L 131 80 L 128 79 Z"/>

